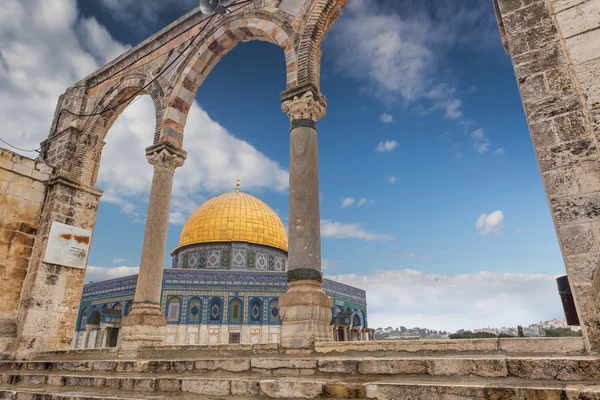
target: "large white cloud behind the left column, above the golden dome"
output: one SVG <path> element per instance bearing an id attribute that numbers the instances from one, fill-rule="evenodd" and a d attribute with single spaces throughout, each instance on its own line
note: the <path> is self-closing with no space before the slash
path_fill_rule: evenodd
<path id="1" fill-rule="evenodd" d="M 143 219 L 152 183 L 152 167 L 144 148 L 154 132 L 154 105 L 143 97 L 129 106 L 107 135 L 98 186 L 103 200 L 121 205 L 134 219 Z M 151 142 L 150 142 L 151 143 Z M 242 190 L 285 192 L 288 172 L 248 142 L 232 136 L 194 102 L 186 124 L 185 164 L 175 171 L 170 222 L 181 225 L 209 194 L 233 191 L 237 173 Z"/>

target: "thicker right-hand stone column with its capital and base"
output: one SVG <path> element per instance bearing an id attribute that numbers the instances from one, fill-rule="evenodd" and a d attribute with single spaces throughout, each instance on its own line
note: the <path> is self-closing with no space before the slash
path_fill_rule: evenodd
<path id="1" fill-rule="evenodd" d="M 326 100 L 313 85 L 282 94 L 290 118 L 288 291 L 279 298 L 281 345 L 307 348 L 329 342 L 333 300 L 321 284 L 317 121 Z"/>

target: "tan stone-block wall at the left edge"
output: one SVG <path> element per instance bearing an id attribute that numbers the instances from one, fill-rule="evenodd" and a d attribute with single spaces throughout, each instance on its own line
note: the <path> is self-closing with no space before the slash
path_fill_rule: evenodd
<path id="1" fill-rule="evenodd" d="M 0 149 L 0 337 L 16 334 L 16 310 L 51 173 L 43 162 Z"/>

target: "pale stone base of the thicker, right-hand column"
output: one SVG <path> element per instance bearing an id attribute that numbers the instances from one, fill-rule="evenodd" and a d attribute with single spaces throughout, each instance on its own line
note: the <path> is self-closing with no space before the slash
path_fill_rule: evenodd
<path id="1" fill-rule="evenodd" d="M 321 289 L 321 282 L 307 279 L 288 282 L 288 291 L 279 297 L 281 346 L 310 348 L 315 342 L 331 342 L 333 299 Z"/>

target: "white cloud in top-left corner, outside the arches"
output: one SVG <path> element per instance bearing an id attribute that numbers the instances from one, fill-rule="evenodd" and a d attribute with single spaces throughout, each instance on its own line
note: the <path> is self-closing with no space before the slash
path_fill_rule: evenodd
<path id="1" fill-rule="evenodd" d="M 3 0 L 0 136 L 21 148 L 38 148 L 50 132 L 59 95 L 127 49 L 95 19 L 81 17 L 75 0 Z"/>

